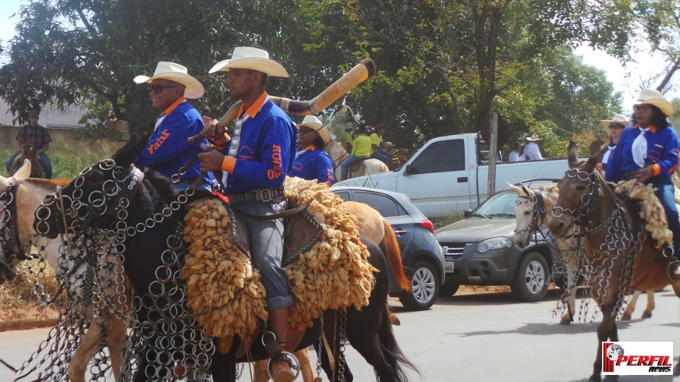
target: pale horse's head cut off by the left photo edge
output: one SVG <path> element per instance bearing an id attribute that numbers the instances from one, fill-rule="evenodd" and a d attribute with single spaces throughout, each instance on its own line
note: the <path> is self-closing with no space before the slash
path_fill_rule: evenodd
<path id="1" fill-rule="evenodd" d="M 30 161 L 24 160 L 23 166 L 19 168 L 11 178 L 4 178 L 0 175 L 0 226 L 2 235 L 0 236 L 0 284 L 5 280 L 11 281 L 16 277 L 16 265 L 19 258 L 14 250 L 17 245 L 16 235 L 16 195 L 12 192 L 12 187 L 16 182 L 23 181 L 30 175 Z M 12 207 L 12 204 L 13 207 Z M 15 226 L 12 226 L 15 224 Z"/>

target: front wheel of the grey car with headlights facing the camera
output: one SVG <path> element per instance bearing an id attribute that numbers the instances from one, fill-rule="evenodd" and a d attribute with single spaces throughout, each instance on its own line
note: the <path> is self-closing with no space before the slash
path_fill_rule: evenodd
<path id="1" fill-rule="evenodd" d="M 536 252 L 527 253 L 510 284 L 513 296 L 521 301 L 539 301 L 548 293 L 548 262 Z"/>

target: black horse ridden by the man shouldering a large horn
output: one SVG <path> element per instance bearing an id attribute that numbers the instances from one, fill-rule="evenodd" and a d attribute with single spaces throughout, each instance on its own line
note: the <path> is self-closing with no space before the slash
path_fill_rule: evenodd
<path id="1" fill-rule="evenodd" d="M 108 212 L 118 207 L 118 205 L 112 205 L 111 202 L 117 203 L 120 199 L 118 193 L 128 187 L 117 186 L 115 180 L 128 181 L 132 178 L 132 173 L 135 173 L 135 176 L 140 176 L 140 173 L 135 172 L 132 161 L 141 151 L 144 143 L 142 141 L 141 145 L 135 143 L 127 144 L 116 151 L 111 156 L 111 160 L 95 163 L 95 165 L 86 168 L 72 183 L 64 187 L 62 194 L 67 197 L 64 197 L 63 200 L 60 200 L 57 195 L 48 197 L 43 207 L 41 207 L 42 210 L 39 209 L 36 212 L 38 216 L 36 224 L 50 227 L 45 232 L 47 237 L 55 236 L 57 232 L 65 231 L 63 224 L 60 223 L 62 221 L 62 213 L 57 208 L 58 204 L 62 202 L 64 202 L 65 211 L 67 211 L 64 219 L 67 220 L 67 226 L 70 228 L 78 226 L 77 223 L 73 224 L 82 215 L 90 216 L 88 219 L 90 226 L 112 228 L 114 224 L 120 224 L 120 220 L 116 221 Z M 135 291 L 140 291 L 148 290 L 149 287 L 145 289 L 143 284 L 152 282 L 152 278 L 155 279 L 157 269 L 162 265 L 161 254 L 158 252 L 161 252 L 163 248 L 167 248 L 166 241 L 174 234 L 179 224 L 181 224 L 182 213 L 181 211 L 175 212 L 174 207 L 169 207 L 176 201 L 177 197 L 172 192 L 167 178 L 157 173 L 144 173 L 143 180 L 138 182 L 135 187 L 137 187 L 137 190 L 133 194 L 128 193 L 125 196 L 127 207 L 124 214 L 125 219 L 123 219 L 127 228 L 125 231 L 130 231 L 130 228 L 140 227 L 141 225 L 144 227 L 144 232 L 138 232 L 133 236 L 125 238 L 125 261 L 132 261 L 134 267 L 129 267 L 126 263 L 124 265 L 125 269 L 128 270 L 130 281 L 135 286 Z M 68 204 L 74 202 L 72 198 L 74 190 L 77 190 L 79 197 L 93 202 L 97 207 L 83 208 L 83 206 L 79 205 L 72 208 Z M 94 209 L 96 211 L 92 212 Z M 172 212 L 166 214 L 165 212 L 168 209 Z M 154 223 L 144 223 L 149 221 L 154 221 Z M 153 226 L 153 228 L 147 230 L 148 226 Z M 376 376 L 378 376 L 380 381 L 404 381 L 406 380 L 406 375 L 402 370 L 402 366 L 417 370 L 404 356 L 401 349 L 399 349 L 392 332 L 387 306 L 387 291 L 389 288 L 387 261 L 385 255 L 382 254 L 382 251 L 374 243 L 368 240 L 365 240 L 364 243 L 370 251 L 368 258 L 370 264 L 379 270 L 379 272 L 375 273 L 375 288 L 371 291 L 370 303 L 368 306 L 364 306 L 361 311 L 356 311 L 355 308 L 350 307 L 346 309 L 346 313 L 338 311 L 324 312 L 322 315 L 324 323 L 334 323 L 336 319 L 339 319 L 339 316 L 344 315 L 342 320 L 346 320 L 346 328 L 340 330 L 340 328 L 336 327 L 337 325 L 322 326 L 321 321 L 316 320 L 312 330 L 305 332 L 297 349 L 313 344 L 318 350 L 319 330 L 322 327 L 327 338 L 335 339 L 329 346 L 337 349 L 340 345 L 341 332 L 344 332 L 346 339 L 351 345 L 375 368 Z M 144 253 L 145 255 L 143 258 L 139 257 L 139 255 L 135 257 L 135 253 Z M 149 264 L 145 264 L 145 262 L 149 262 Z M 132 271 L 130 271 L 130 268 L 132 268 Z M 392 264 L 392 272 L 403 273 L 402 266 Z M 402 275 L 402 277 L 405 279 L 405 276 Z M 146 323 L 145 325 L 152 324 Z M 240 342 L 241 340 L 239 339 L 234 340 L 232 347 L 225 354 L 221 352 L 214 354 L 210 371 L 216 380 L 233 381 L 237 361 L 266 358 L 263 345 L 261 345 L 259 340 L 254 340 L 253 346 L 249 349 L 249 359 L 246 359 L 245 355 L 237 359 L 236 352 Z M 329 375 L 329 378 L 332 379 L 334 374 L 331 370 L 328 355 L 326 352 L 323 355 L 322 366 Z M 344 374 L 345 380 L 351 381 L 351 372 L 346 365 L 343 365 L 344 361 L 341 357 L 340 359 L 335 358 L 334 364 L 335 370 L 340 371 L 340 374 Z M 341 371 L 344 371 L 344 373 Z"/>

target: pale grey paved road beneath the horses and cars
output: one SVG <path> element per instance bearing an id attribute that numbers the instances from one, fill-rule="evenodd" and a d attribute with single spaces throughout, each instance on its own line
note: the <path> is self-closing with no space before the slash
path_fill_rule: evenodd
<path id="1" fill-rule="evenodd" d="M 556 303 L 550 293 L 550 298 L 538 303 L 515 302 L 509 293 L 453 296 L 438 299 L 424 312 L 404 311 L 398 301 L 390 301 L 401 320 L 395 327 L 397 341 L 423 381 L 585 382 L 596 352 L 596 325 L 558 325 L 558 318 L 550 314 Z M 673 340 L 675 364 L 680 352 L 680 300 L 669 288 L 656 296 L 654 316 L 640 320 L 646 303 L 646 297 L 641 297 L 633 320 L 618 323 L 619 337 L 621 341 Z M 18 366 L 46 335 L 45 329 L 2 332 L 0 358 Z M 346 358 L 355 381 L 375 381 L 373 369 L 353 349 L 348 348 Z M 0 365 L 0 381 L 11 381 L 12 376 Z M 421 380 L 410 371 L 409 378 Z M 680 378 L 621 376 L 619 381 Z"/>

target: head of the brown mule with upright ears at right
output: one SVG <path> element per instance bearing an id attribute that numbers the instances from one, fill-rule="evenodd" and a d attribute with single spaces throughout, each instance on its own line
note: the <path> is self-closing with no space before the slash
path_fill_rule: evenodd
<path id="1" fill-rule="evenodd" d="M 579 161 L 577 146 L 573 141 L 570 142 L 567 150 L 569 170 L 557 183 L 560 195 L 548 222 L 548 228 L 556 238 L 567 236 L 574 224 L 586 227 L 589 221 L 594 220 L 594 215 L 601 212 L 596 204 L 601 195 L 609 190 L 597 170 L 597 163 L 604 151 L 606 147 L 587 161 Z"/>

